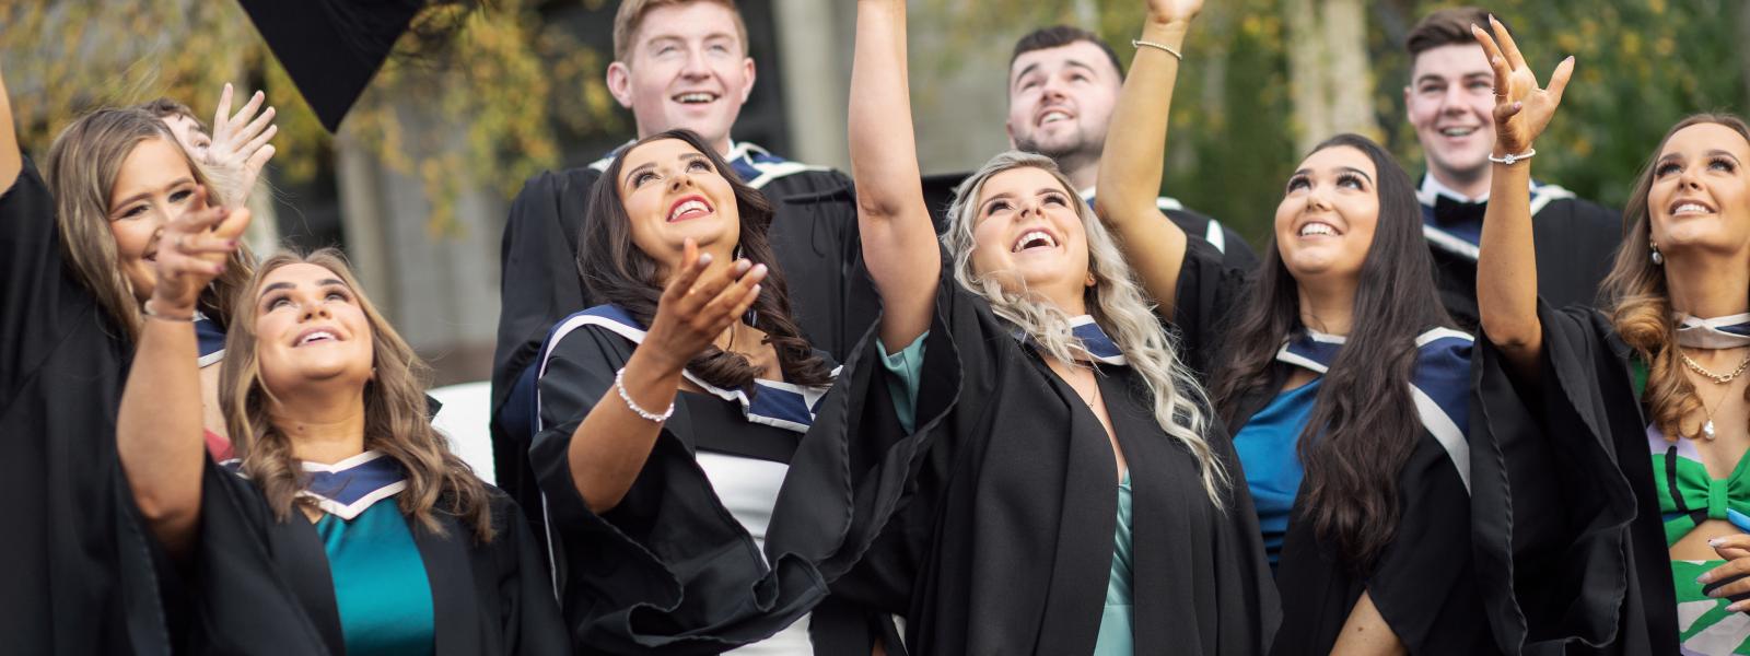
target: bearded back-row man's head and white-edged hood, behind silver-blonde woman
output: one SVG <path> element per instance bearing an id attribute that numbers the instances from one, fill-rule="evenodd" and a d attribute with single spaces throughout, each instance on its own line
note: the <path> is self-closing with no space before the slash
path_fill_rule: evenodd
<path id="1" fill-rule="evenodd" d="M 1118 105 L 1124 70 L 1099 35 L 1073 28 L 1034 30 L 1015 42 L 1008 65 L 1008 143 L 1057 161 L 1057 168 L 1094 203 L 1106 124 Z M 1250 269 L 1258 257 L 1232 229 L 1162 196 L 1160 210 L 1185 234 L 1209 241 L 1230 266 Z"/>

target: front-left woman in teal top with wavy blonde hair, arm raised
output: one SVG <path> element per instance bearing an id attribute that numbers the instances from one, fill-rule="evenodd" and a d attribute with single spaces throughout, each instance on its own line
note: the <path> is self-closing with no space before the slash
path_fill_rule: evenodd
<path id="1" fill-rule="evenodd" d="M 247 212 L 247 210 L 240 210 Z M 516 506 L 425 416 L 425 367 L 334 250 L 275 255 L 238 297 L 198 439 L 198 290 L 242 227 L 173 220 L 116 439 L 147 530 L 191 572 L 191 653 L 564 654 Z"/>

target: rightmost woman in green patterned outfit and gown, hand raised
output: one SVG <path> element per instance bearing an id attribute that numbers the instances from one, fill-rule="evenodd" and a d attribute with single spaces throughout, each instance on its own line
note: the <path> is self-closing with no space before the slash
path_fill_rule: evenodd
<path id="1" fill-rule="evenodd" d="M 1750 653 L 1750 128 L 1676 122 L 1634 180 L 1606 306 L 1536 294 L 1524 189 L 1573 72 L 1540 89 L 1514 38 L 1494 66 L 1479 555 L 1503 646 Z M 1547 149 L 1547 145 L 1545 145 Z M 1482 469 L 1488 465 L 1489 469 Z M 1489 506 L 1482 506 L 1488 499 Z"/>

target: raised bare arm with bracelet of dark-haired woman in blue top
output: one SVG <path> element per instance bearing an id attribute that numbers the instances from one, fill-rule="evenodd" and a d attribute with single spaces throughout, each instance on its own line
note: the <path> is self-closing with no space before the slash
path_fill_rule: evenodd
<path id="1" fill-rule="evenodd" d="M 1155 196 L 1167 149 L 1172 86 L 1180 77 L 1180 56 L 1174 52 L 1183 52 L 1185 33 L 1199 10 L 1202 0 L 1148 2 L 1136 59 L 1106 131 L 1111 136 L 1101 152 L 1099 194 L 1094 198 L 1094 212 L 1118 233 L 1125 259 L 1164 317 L 1172 317 L 1186 240 L 1185 231 L 1160 213 Z"/>

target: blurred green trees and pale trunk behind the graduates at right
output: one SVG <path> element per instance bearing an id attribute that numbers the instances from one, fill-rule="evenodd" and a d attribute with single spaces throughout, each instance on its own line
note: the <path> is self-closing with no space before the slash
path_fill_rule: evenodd
<path id="1" fill-rule="evenodd" d="M 959 47 L 1034 26 L 1096 26 L 1129 65 L 1141 0 L 926 0 Z M 1269 238 L 1281 184 L 1304 150 L 1337 131 L 1381 140 L 1423 170 L 1404 117 L 1404 37 L 1438 7 L 1426 0 L 1211 0 L 1185 49 L 1162 191 Z M 1564 56 L 1577 72 L 1538 143 L 1540 180 L 1622 206 L 1664 131 L 1692 112 L 1743 112 L 1750 2 L 1496 0 L 1480 3 L 1519 35 L 1547 80 Z M 915 21 L 915 17 L 914 17 Z M 1003 47 L 1013 37 L 1003 38 Z M 945 52 L 954 58 L 957 52 Z M 917 66 L 919 52 L 912 52 Z"/>

